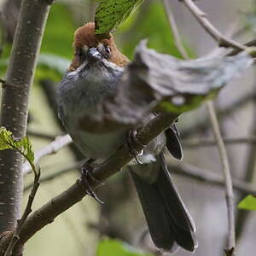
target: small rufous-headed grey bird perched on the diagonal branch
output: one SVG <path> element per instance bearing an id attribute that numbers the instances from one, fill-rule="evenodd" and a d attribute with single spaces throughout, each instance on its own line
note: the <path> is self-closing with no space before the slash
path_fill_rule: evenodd
<path id="1" fill-rule="evenodd" d="M 129 60 L 121 54 L 112 35 L 104 39 L 96 37 L 94 23 L 77 29 L 73 47 L 73 61 L 58 90 L 59 117 L 84 156 L 106 160 L 127 142 L 131 130 L 92 133 L 84 131 L 83 124 L 86 117 L 96 115 L 101 102 L 115 92 Z M 145 122 L 152 118 L 153 113 Z M 143 154 L 137 155 L 137 161 L 132 160 L 127 167 L 155 246 L 165 252 L 175 252 L 178 247 L 194 252 L 197 247 L 195 224 L 172 183 L 163 155 L 165 148 L 177 159 L 182 158 L 175 126 L 154 138 Z"/>

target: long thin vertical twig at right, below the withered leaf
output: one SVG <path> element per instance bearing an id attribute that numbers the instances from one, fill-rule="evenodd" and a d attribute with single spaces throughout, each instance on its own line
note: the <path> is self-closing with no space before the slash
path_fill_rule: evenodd
<path id="1" fill-rule="evenodd" d="M 230 174 L 230 165 L 228 160 L 228 155 L 224 146 L 224 141 L 221 137 L 219 126 L 218 126 L 218 119 L 215 113 L 213 102 L 207 102 L 207 109 L 210 116 L 211 124 L 212 124 L 212 131 L 213 135 L 216 139 L 218 144 L 218 152 L 221 159 L 221 163 L 223 166 L 224 172 L 224 180 L 225 180 L 225 187 L 226 187 L 226 202 L 227 202 L 227 209 L 228 209 L 228 223 L 229 223 L 229 237 L 228 237 L 228 250 L 227 252 L 231 252 L 233 248 L 236 248 L 236 236 L 235 236 L 235 207 L 234 207 L 234 191 L 232 186 L 232 178 Z M 232 251 L 232 255 L 235 255 Z"/>

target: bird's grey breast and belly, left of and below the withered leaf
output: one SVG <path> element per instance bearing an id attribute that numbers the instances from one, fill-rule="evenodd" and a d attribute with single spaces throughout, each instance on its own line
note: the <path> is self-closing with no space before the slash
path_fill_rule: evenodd
<path id="1" fill-rule="evenodd" d="M 86 122 L 86 116 L 98 114 L 104 98 L 114 92 L 120 73 L 101 68 L 89 71 L 64 76 L 58 93 L 59 116 L 85 156 L 106 159 L 125 142 L 127 131 L 94 134 L 84 131 L 80 124 L 81 119 Z"/>

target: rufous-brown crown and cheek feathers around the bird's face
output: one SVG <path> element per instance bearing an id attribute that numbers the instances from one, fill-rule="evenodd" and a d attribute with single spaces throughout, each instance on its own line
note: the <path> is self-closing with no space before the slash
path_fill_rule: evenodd
<path id="1" fill-rule="evenodd" d="M 109 38 L 97 38 L 95 34 L 95 24 L 93 22 L 87 23 L 84 26 L 79 27 L 74 33 L 73 48 L 75 49 L 73 61 L 70 64 L 68 70 L 74 71 L 80 66 L 79 60 L 79 49 L 83 49 L 84 46 L 87 47 L 97 47 L 98 44 L 108 45 L 111 49 L 111 54 L 108 61 L 113 62 L 119 67 L 124 67 L 129 63 L 129 59 L 123 55 L 116 44 L 114 43 L 113 36 L 110 34 Z"/>

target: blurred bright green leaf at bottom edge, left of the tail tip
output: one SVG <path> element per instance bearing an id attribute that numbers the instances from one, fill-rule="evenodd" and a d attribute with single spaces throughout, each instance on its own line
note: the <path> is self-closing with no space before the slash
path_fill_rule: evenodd
<path id="1" fill-rule="evenodd" d="M 145 254 L 136 247 L 131 247 L 125 242 L 105 239 L 98 244 L 96 256 L 153 256 Z"/>

